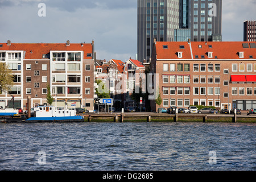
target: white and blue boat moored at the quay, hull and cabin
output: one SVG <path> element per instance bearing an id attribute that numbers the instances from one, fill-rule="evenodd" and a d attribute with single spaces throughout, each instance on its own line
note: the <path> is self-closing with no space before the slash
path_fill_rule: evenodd
<path id="1" fill-rule="evenodd" d="M 38 106 L 34 117 L 25 122 L 84 122 L 82 115 L 76 115 L 76 110 L 55 109 L 55 106 Z"/>

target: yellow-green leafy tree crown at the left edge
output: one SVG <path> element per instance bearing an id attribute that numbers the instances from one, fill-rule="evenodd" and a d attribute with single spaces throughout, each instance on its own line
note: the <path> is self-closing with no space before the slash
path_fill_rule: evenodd
<path id="1" fill-rule="evenodd" d="M 9 90 L 13 86 L 13 71 L 6 64 L 0 64 L 0 92 Z"/>

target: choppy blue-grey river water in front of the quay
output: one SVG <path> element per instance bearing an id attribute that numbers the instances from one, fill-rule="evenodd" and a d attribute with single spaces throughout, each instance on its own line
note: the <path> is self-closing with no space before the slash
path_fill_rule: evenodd
<path id="1" fill-rule="evenodd" d="M 256 169 L 255 123 L 0 123 L 0 131 L 0 170 Z"/>

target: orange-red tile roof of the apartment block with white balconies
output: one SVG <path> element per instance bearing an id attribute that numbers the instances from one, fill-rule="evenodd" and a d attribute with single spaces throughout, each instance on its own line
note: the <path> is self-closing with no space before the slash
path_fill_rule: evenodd
<path id="1" fill-rule="evenodd" d="M 92 59 L 91 57 L 87 57 L 87 53 L 93 53 L 92 44 L 70 44 L 70 46 L 66 46 L 66 44 L 47 44 L 47 43 L 11 43 L 10 46 L 7 46 L 6 43 L 0 43 L 2 47 L 0 47 L 0 51 L 26 51 L 25 59 L 42 59 L 44 54 L 49 53 L 50 51 L 83 51 L 84 59 Z M 32 53 L 30 53 L 30 51 Z"/>

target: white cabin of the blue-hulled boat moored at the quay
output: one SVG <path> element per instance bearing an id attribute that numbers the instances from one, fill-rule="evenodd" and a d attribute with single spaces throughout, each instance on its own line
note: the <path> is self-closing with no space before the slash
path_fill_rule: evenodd
<path id="1" fill-rule="evenodd" d="M 38 110 L 35 111 L 36 118 L 48 118 L 48 117 L 68 117 L 75 116 L 76 110 L 58 110 L 54 106 L 38 106 Z"/>

